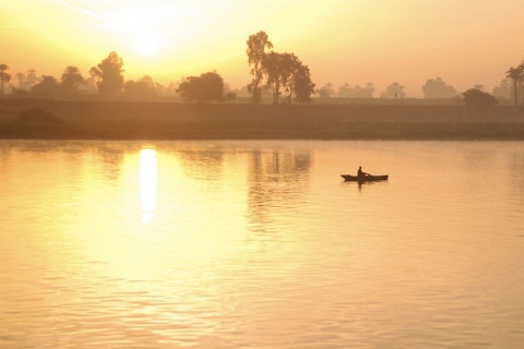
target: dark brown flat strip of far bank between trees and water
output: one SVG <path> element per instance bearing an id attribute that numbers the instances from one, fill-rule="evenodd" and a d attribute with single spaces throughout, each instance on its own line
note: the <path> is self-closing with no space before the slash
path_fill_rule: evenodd
<path id="1" fill-rule="evenodd" d="M 22 121 L 39 108 L 56 122 Z M 524 140 L 524 108 L 0 99 L 1 139 Z"/>

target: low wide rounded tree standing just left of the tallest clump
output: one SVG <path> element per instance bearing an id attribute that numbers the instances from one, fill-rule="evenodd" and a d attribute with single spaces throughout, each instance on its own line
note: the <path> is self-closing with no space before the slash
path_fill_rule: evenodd
<path id="1" fill-rule="evenodd" d="M 224 80 L 215 71 L 189 76 L 178 85 L 177 93 L 186 103 L 224 101 Z"/>

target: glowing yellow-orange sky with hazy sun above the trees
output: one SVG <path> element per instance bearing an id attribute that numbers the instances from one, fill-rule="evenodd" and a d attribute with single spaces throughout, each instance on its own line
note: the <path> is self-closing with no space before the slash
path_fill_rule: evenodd
<path id="1" fill-rule="evenodd" d="M 0 2 L 0 63 L 84 77 L 109 52 L 126 80 L 167 86 L 216 70 L 250 82 L 246 41 L 264 31 L 310 68 L 317 87 L 397 82 L 422 97 L 428 79 L 488 91 L 524 60 L 523 0 L 16 0 Z"/>

